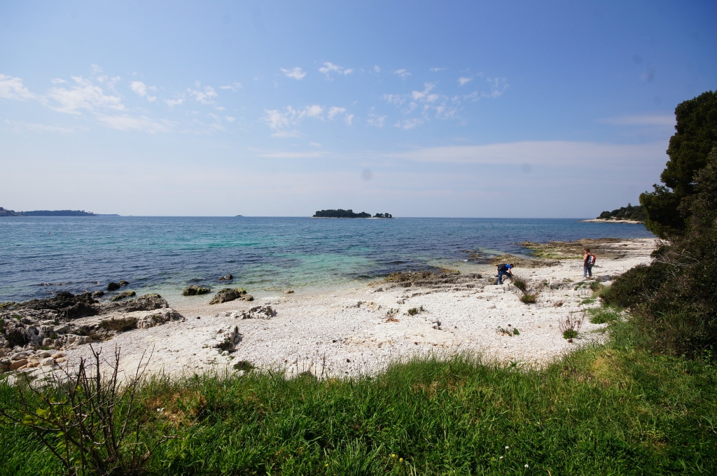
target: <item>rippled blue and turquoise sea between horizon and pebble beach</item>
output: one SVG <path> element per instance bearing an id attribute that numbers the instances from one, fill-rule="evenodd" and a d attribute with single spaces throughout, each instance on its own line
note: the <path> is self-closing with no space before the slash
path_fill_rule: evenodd
<path id="1" fill-rule="evenodd" d="M 642 225 L 576 219 L 310 219 L 276 217 L 6 217 L 0 219 L 0 301 L 59 290 L 250 292 L 326 289 L 394 271 L 462 262 L 465 252 L 525 253 L 523 241 L 652 237 Z"/>

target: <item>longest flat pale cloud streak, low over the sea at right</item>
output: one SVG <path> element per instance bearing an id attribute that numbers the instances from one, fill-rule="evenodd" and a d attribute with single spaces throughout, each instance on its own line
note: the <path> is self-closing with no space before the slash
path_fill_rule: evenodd
<path id="1" fill-rule="evenodd" d="M 399 127 L 402 125 L 397 124 Z M 623 145 L 569 141 L 522 141 L 485 146 L 445 146 L 390 154 L 417 162 L 500 163 L 594 166 L 610 168 L 639 163 L 663 163 L 665 143 Z"/>

